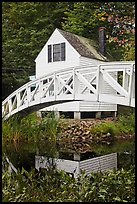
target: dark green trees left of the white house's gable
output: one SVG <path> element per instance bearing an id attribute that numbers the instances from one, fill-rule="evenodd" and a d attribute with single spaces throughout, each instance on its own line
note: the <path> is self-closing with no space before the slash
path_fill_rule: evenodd
<path id="1" fill-rule="evenodd" d="M 21 86 L 20 82 L 27 82 L 30 73 L 35 73 L 35 58 L 54 29 L 61 28 L 64 10 L 70 6 L 68 2 L 2 3 L 2 67 L 12 72 L 2 75 L 3 98 Z M 24 76 L 13 68 L 24 69 Z"/>

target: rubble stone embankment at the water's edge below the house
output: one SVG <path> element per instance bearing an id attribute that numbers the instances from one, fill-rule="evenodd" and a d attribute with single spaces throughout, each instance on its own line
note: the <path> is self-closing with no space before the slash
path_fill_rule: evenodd
<path id="1" fill-rule="evenodd" d="M 117 139 L 130 139 L 134 135 L 119 135 L 113 136 L 109 132 L 101 134 L 100 136 L 94 135 L 91 132 L 91 127 L 97 123 L 111 122 L 114 118 L 104 119 L 89 119 L 89 120 L 73 120 L 62 119 L 59 124 L 60 133 L 57 137 L 57 144 L 59 148 L 64 151 L 76 151 L 84 153 L 92 151 L 95 144 L 112 144 Z"/>

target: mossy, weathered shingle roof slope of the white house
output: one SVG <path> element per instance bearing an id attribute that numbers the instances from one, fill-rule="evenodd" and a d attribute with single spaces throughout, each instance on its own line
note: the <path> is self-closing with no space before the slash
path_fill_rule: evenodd
<path id="1" fill-rule="evenodd" d="M 63 31 L 61 29 L 58 29 L 58 31 L 81 56 L 101 61 L 109 61 L 105 56 L 103 56 L 97 51 L 98 46 L 91 39 L 78 36 L 73 33 Z"/>

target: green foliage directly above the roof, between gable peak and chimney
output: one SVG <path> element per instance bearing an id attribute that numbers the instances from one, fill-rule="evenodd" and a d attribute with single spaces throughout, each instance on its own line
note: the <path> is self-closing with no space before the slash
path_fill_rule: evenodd
<path id="1" fill-rule="evenodd" d="M 67 9 L 62 23 L 63 29 L 77 35 L 97 40 L 100 25 L 100 8 L 94 2 L 75 2 L 73 9 Z M 88 19 L 88 21 L 87 21 Z M 92 32 L 94 30 L 94 32 Z"/>

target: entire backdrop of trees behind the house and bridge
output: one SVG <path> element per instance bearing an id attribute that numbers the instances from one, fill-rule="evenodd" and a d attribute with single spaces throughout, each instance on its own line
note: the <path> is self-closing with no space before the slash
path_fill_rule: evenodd
<path id="1" fill-rule="evenodd" d="M 135 2 L 2 2 L 2 99 L 35 74 L 35 58 L 55 28 L 98 41 L 114 60 L 134 60 Z"/>

